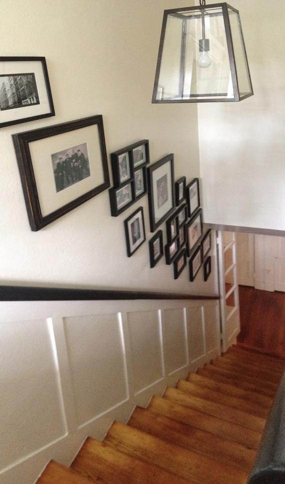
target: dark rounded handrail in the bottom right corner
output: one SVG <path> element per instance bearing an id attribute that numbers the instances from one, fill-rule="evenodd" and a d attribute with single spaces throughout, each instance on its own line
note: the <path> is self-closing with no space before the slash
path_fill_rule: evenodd
<path id="1" fill-rule="evenodd" d="M 281 378 L 247 484 L 285 483 L 285 373 Z"/>

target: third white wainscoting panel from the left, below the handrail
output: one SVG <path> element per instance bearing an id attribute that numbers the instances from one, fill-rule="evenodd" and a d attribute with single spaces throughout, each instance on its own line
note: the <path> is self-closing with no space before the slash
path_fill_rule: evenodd
<path id="1" fill-rule="evenodd" d="M 164 376 L 159 311 L 127 314 L 134 392 L 152 385 Z"/>

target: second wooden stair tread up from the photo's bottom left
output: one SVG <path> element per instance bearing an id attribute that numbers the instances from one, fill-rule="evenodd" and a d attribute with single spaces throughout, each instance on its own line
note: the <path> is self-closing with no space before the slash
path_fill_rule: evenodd
<path id="1" fill-rule="evenodd" d="M 146 464 L 90 437 L 79 450 L 71 468 L 101 484 L 189 484 L 189 481 L 152 462 Z"/>

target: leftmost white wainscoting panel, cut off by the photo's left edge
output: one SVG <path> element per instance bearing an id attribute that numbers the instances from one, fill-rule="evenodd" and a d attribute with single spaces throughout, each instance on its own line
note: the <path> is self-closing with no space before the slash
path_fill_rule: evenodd
<path id="1" fill-rule="evenodd" d="M 66 433 L 45 320 L 0 324 L 0 468 Z"/>

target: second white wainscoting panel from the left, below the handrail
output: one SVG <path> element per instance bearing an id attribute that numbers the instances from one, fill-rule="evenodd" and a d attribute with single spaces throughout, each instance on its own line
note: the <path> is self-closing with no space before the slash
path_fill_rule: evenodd
<path id="1" fill-rule="evenodd" d="M 116 314 L 64 318 L 64 326 L 79 426 L 127 399 L 124 347 Z"/>

